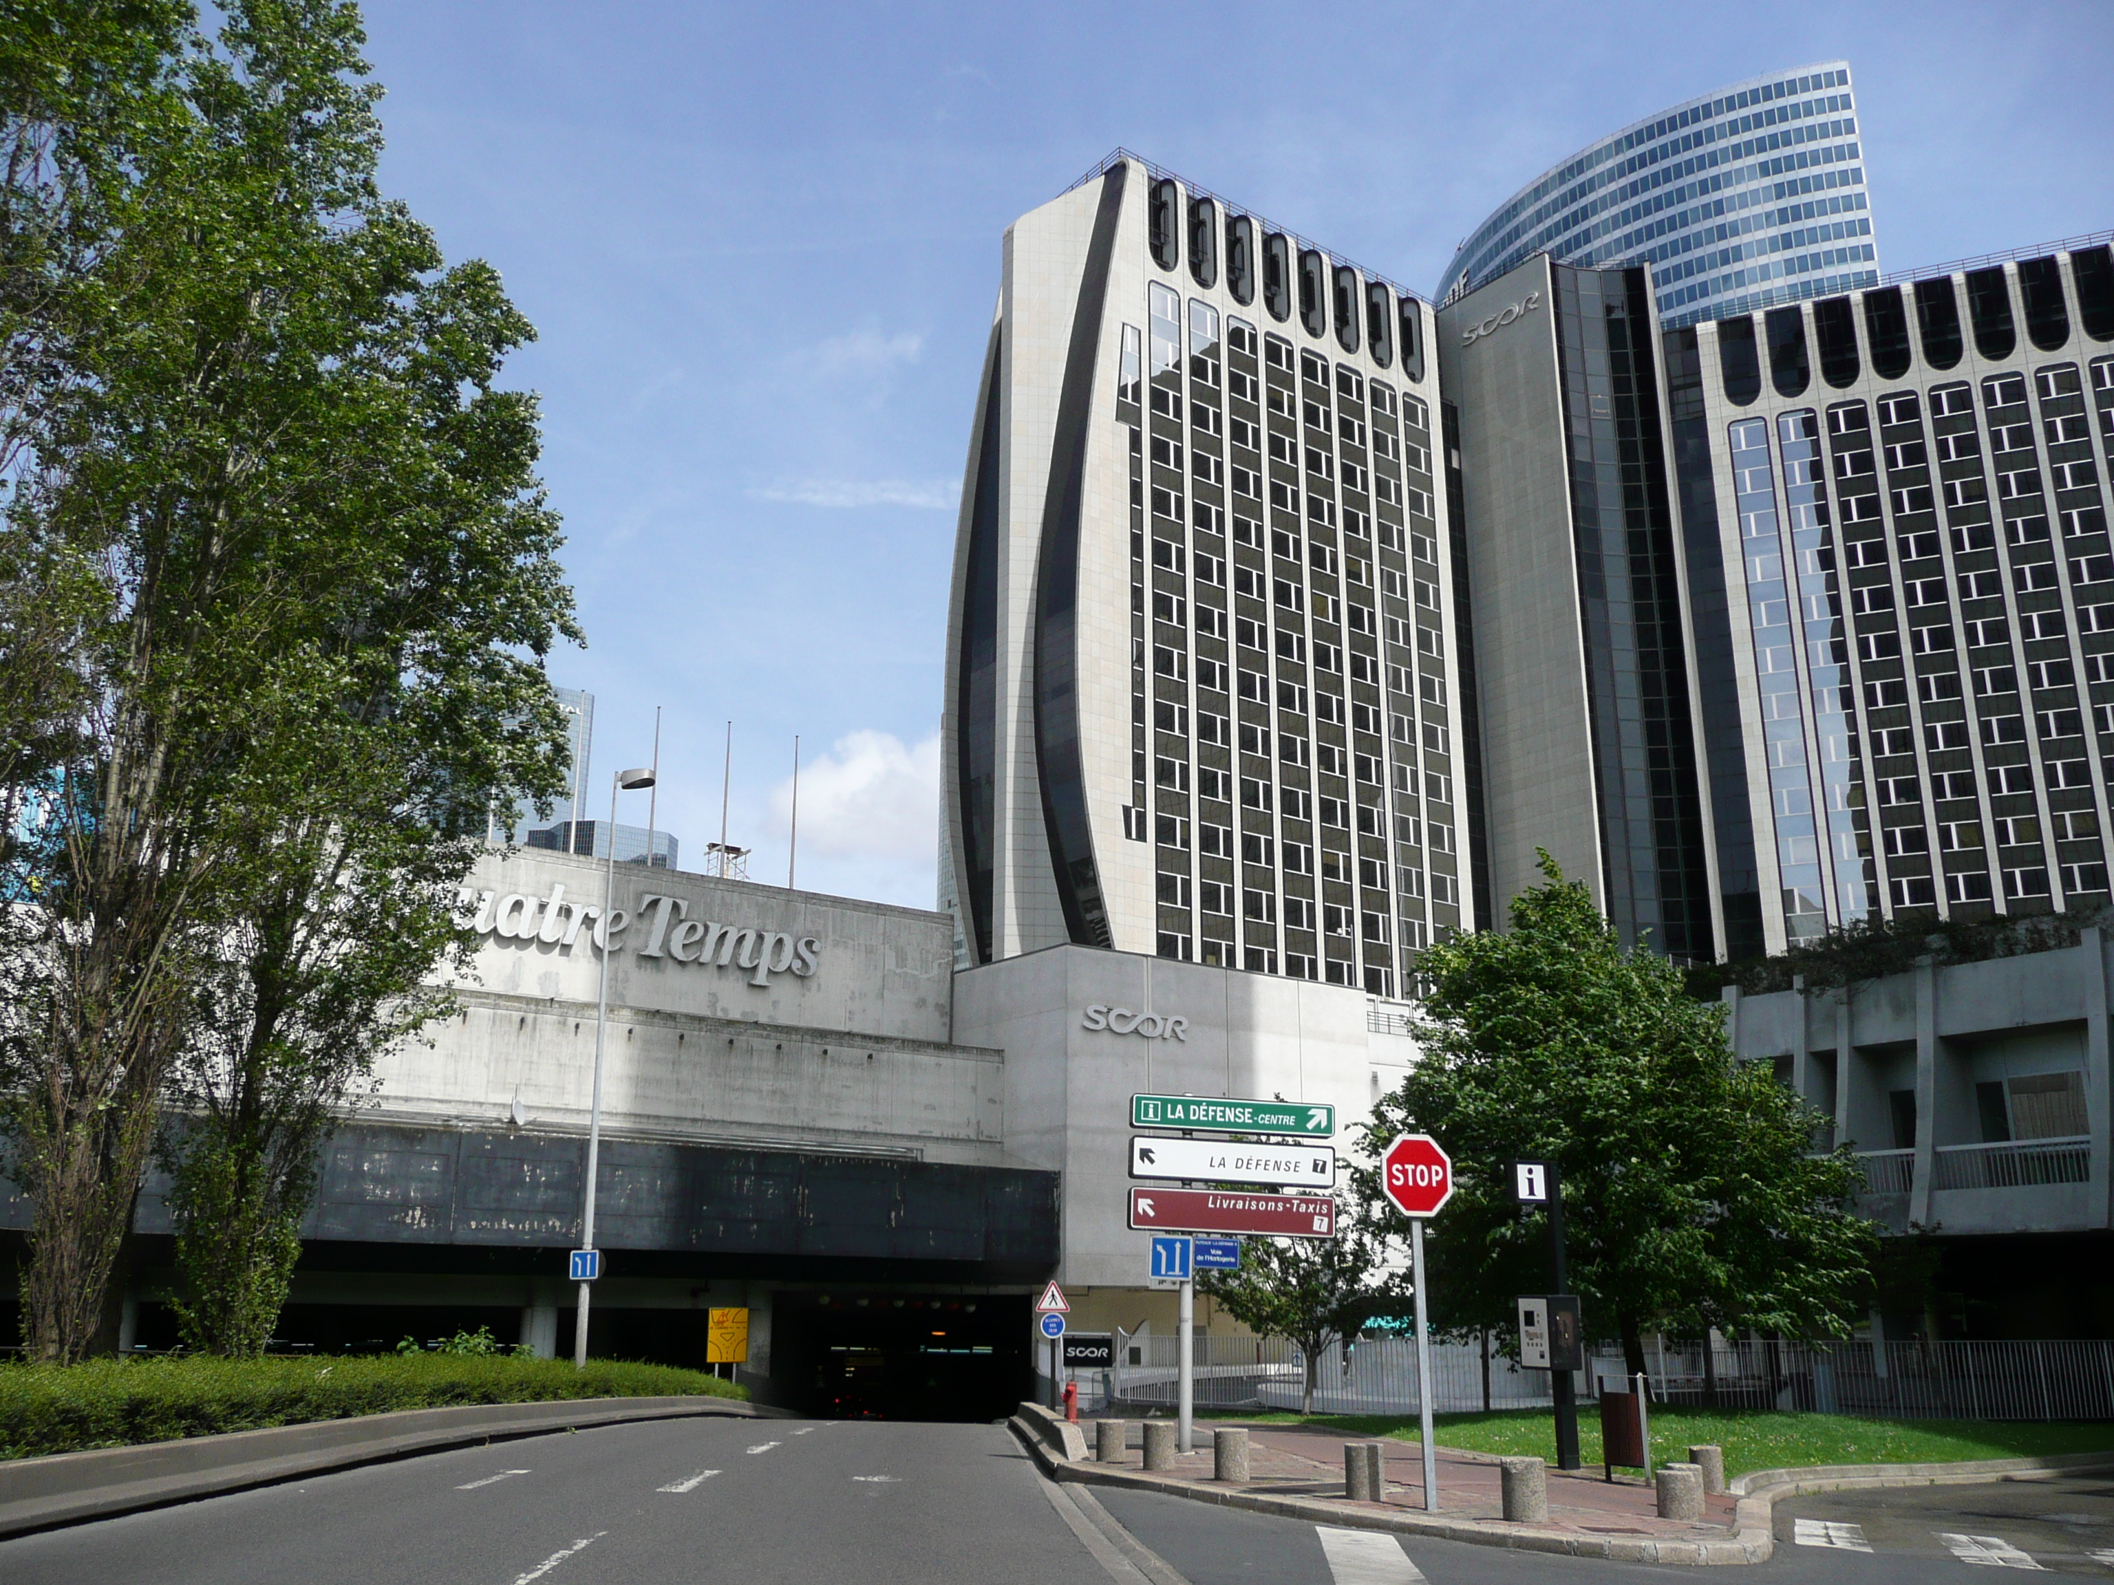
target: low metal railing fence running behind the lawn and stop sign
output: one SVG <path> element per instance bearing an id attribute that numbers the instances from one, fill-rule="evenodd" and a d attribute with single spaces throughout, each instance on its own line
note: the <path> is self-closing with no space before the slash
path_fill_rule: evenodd
<path id="1" fill-rule="evenodd" d="M 1118 1331 L 1114 1365 L 1082 1374 L 1084 1407 L 1171 1407 L 1180 1355 L 1171 1336 Z M 1298 1410 L 1306 1357 L 1281 1338 L 1197 1338 L 1199 1407 Z M 2114 1342 L 1725 1342 L 1704 1369 L 1700 1344 L 1653 1342 L 1645 1374 L 1659 1403 L 1867 1414 L 1900 1420 L 2114 1420 Z M 1547 1407 L 1550 1372 L 1492 1355 L 1488 1391 L 1478 1342 L 1431 1346 L 1435 1414 Z M 1579 1399 L 1624 1380 L 1621 1348 L 1600 1344 L 1577 1374 Z M 1366 1338 L 1315 1361 L 1317 1414 L 1416 1414 L 1416 1344 Z"/>

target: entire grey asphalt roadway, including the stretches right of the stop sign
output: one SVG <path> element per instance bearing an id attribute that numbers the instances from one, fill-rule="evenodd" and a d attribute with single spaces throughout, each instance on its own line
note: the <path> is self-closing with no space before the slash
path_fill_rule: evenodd
<path id="1" fill-rule="evenodd" d="M 1776 1505 L 1759 1585 L 2114 1579 L 2114 1477 Z M 0 1543 L 4 1585 L 1609 1585 L 1588 1558 L 1057 1488 L 1002 1426 L 660 1420 L 531 1437 Z"/>

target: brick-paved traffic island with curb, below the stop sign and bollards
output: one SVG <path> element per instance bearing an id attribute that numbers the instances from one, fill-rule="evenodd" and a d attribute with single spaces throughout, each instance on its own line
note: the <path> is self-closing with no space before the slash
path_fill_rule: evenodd
<path id="1" fill-rule="evenodd" d="M 1027 1407 L 1027 1405 L 1023 1405 Z M 1190 1454 L 1171 1454 L 1165 1469 L 1146 1469 L 1148 1426 L 1173 1422 L 1127 1422 L 1120 1437 L 1120 1458 L 1112 1458 L 1116 1437 L 1095 1437 L 1093 1460 L 1063 1458 L 1038 1435 L 1025 1416 L 1015 1416 L 1013 1429 L 1027 1443 L 1036 1462 L 1051 1479 L 1129 1490 L 1161 1492 L 1194 1503 L 1271 1513 L 1309 1524 L 1345 1526 L 1353 1530 L 1391 1530 L 1395 1534 L 1440 1536 L 1482 1547 L 1516 1551 L 1550 1551 L 1573 1558 L 1607 1558 L 1630 1564 L 1759 1564 L 1776 1543 L 1772 1539 L 1772 1505 L 1780 1496 L 1856 1486 L 1926 1486 L 1941 1481 L 2017 1479 L 2053 1469 L 2114 1469 L 2114 1454 L 2070 1454 L 2051 1458 L 1996 1458 L 1964 1465 L 1854 1465 L 1835 1469 L 1757 1471 L 1731 1484 L 1729 1492 L 1695 1490 L 1702 1479 L 1683 1481 L 1685 1496 L 1700 1496 L 1700 1517 L 1662 1519 L 1657 1484 L 1634 1475 L 1605 1479 L 1598 1469 L 1560 1471 L 1543 1467 L 1541 1503 L 1522 1488 L 1531 1486 L 1524 1471 L 1507 1471 L 1497 1454 L 1438 1448 L 1438 1511 L 1423 1503 L 1423 1450 L 1416 1443 L 1353 1441 L 1340 1433 L 1304 1426 L 1245 1426 L 1247 1479 L 1228 1481 L 1218 1475 L 1209 1446 Z M 1213 1429 L 1224 1426 L 1216 1422 Z M 1230 1429 L 1230 1426 L 1228 1426 Z M 1171 1437 L 1169 1437 L 1171 1439 Z M 1376 1500 L 1351 1500 L 1347 1475 L 1357 1469 L 1357 1484 L 1372 1479 L 1378 1454 Z M 1355 1458 L 1347 1456 L 1355 1450 Z M 1514 1488 L 1514 1511 L 1543 1517 L 1507 1519 L 1507 1473 Z"/>

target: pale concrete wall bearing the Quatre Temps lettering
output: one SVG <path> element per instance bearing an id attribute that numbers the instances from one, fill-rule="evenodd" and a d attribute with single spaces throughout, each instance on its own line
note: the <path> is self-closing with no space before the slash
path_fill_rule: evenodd
<path id="1" fill-rule="evenodd" d="M 602 869 L 562 854 L 490 856 L 476 894 L 600 902 Z M 602 1122 L 613 1135 L 905 1154 L 1000 1164 L 1004 1059 L 949 1042 L 947 915 L 617 866 Z M 814 972 L 706 966 L 674 955 L 693 921 L 814 943 Z M 562 911 L 562 909 L 560 909 Z M 668 915 L 660 955 L 655 919 Z M 514 921 L 522 921 L 516 905 Z M 571 924 L 571 921 L 564 921 Z M 600 957 L 573 945 L 484 936 L 461 1012 L 376 1065 L 378 1116 L 442 1126 L 583 1131 L 594 1088 Z M 698 943 L 689 947 L 698 951 Z"/>

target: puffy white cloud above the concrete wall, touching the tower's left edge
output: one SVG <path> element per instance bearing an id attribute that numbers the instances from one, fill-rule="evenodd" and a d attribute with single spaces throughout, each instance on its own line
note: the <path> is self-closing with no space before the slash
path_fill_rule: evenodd
<path id="1" fill-rule="evenodd" d="M 793 812 L 793 778 L 772 788 L 772 814 Z M 854 731 L 799 773 L 799 850 L 930 866 L 939 847 L 939 733 L 905 744 Z M 924 905 L 930 907 L 930 905 Z"/>

